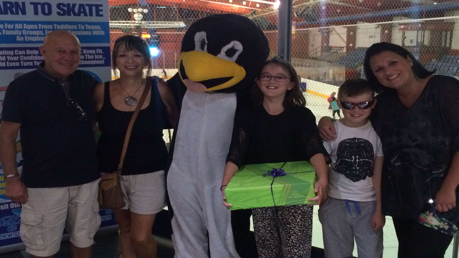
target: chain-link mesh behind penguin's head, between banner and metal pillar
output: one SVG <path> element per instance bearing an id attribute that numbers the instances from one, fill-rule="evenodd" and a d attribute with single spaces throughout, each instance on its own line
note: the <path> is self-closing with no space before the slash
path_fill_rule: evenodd
<path id="1" fill-rule="evenodd" d="M 270 57 L 277 55 L 278 11 L 266 1 L 228 0 L 109 0 L 111 46 L 119 37 L 131 34 L 144 37 L 151 47 L 153 70 L 150 75 L 165 80 L 177 73 L 182 38 L 188 26 L 197 20 L 217 13 L 233 13 L 249 17 L 266 32 Z M 242 6 L 242 7 L 241 7 Z M 141 11 L 139 11 L 139 8 Z M 147 10 L 147 11 L 144 11 Z M 257 13 L 259 12 L 259 13 Z M 141 14 L 142 18 L 139 19 Z M 137 18 L 135 17 L 137 16 Z M 137 19 L 137 20 L 136 20 Z M 114 75 L 112 75 L 114 78 Z M 170 142 L 173 130 L 164 130 L 163 139 Z"/>

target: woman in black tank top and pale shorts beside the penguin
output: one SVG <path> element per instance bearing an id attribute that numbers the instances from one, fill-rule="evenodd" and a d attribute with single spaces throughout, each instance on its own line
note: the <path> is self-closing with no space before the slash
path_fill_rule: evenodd
<path id="1" fill-rule="evenodd" d="M 123 258 L 156 257 L 151 236 L 156 213 L 166 206 L 164 168 L 167 148 L 162 130 L 168 121 L 174 128 L 178 110 L 174 96 L 164 82 L 144 79 L 151 72 L 151 56 L 143 39 L 125 35 L 116 40 L 112 52 L 113 71 L 119 79 L 98 84 L 94 104 L 99 113 L 101 138 L 97 143 L 102 173 L 118 168 L 124 137 L 147 81 L 151 88 L 132 129 L 121 171 L 126 206 L 113 209 L 119 225 Z"/>

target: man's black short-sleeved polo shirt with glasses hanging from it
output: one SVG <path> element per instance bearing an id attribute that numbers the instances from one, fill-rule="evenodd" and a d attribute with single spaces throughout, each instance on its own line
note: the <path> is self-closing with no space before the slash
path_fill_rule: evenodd
<path id="1" fill-rule="evenodd" d="M 82 122 L 77 111 L 67 105 L 63 81 L 42 65 L 12 81 L 3 102 L 1 120 L 22 123 L 22 182 L 30 188 L 42 188 L 94 181 L 100 178 L 92 131 L 96 81 L 80 70 L 69 78 L 70 98 L 88 115 Z"/>

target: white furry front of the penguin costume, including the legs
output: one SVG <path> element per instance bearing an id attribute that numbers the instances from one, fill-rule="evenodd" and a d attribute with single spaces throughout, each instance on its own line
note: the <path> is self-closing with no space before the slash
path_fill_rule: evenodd
<path id="1" fill-rule="evenodd" d="M 167 180 L 175 258 L 206 258 L 207 247 L 240 258 L 220 192 L 235 110 L 235 93 L 185 93 Z"/>

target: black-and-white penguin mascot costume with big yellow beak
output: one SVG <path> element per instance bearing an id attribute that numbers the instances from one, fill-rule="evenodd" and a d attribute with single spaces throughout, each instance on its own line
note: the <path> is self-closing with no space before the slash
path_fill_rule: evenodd
<path id="1" fill-rule="evenodd" d="M 202 18 L 184 35 L 179 72 L 167 82 L 180 106 L 167 175 L 175 258 L 206 258 L 209 250 L 239 258 L 220 186 L 236 109 L 251 105 L 268 55 L 263 31 L 239 15 Z"/>

